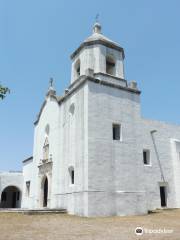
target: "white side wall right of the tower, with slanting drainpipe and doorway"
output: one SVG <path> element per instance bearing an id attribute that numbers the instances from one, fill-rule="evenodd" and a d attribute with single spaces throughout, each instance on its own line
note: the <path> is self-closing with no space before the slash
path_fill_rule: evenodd
<path id="1" fill-rule="evenodd" d="M 139 128 L 138 138 L 141 139 L 141 151 L 149 149 L 151 155 L 151 165 L 144 166 L 148 209 L 160 207 L 159 185 L 164 181 L 167 183 L 167 207 L 180 207 L 180 192 L 178 190 L 180 176 L 177 172 L 177 169 L 180 169 L 180 162 L 177 158 L 179 150 L 173 153 L 172 149 L 173 146 L 175 147 L 172 139 L 180 139 L 180 126 L 142 119 Z M 155 152 L 150 134 L 152 130 L 157 130 L 153 136 L 159 157 Z M 161 175 L 164 176 L 164 179 Z"/>

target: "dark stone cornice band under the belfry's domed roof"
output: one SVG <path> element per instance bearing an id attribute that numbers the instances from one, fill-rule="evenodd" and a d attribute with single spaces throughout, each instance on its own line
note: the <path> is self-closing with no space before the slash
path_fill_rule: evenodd
<path id="1" fill-rule="evenodd" d="M 123 59 L 125 58 L 124 49 L 122 47 L 120 47 L 120 46 L 118 46 L 114 43 L 107 42 L 106 40 L 98 39 L 98 40 L 92 40 L 92 41 L 89 41 L 89 42 L 81 43 L 81 45 L 71 54 L 71 59 L 73 59 L 84 47 L 92 46 L 92 45 L 95 45 L 95 44 L 101 44 L 101 45 L 104 45 L 108 48 L 112 48 L 112 49 L 115 49 L 119 52 L 122 52 Z"/>

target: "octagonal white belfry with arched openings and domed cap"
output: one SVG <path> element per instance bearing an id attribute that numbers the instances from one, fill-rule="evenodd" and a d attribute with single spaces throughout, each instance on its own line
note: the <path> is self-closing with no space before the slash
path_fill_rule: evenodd
<path id="1" fill-rule="evenodd" d="M 86 75 L 87 69 L 94 74 L 104 74 L 124 79 L 124 49 L 105 37 L 100 23 L 93 26 L 93 33 L 71 55 L 71 83 Z"/>

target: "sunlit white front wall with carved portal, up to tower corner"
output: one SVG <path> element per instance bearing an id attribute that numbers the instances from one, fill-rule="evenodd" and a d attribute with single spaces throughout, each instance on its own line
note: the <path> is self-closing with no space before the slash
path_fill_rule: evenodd
<path id="1" fill-rule="evenodd" d="M 84 160 L 87 158 L 87 87 L 74 92 L 71 98 L 58 105 L 48 97 L 38 124 L 35 127 L 33 162 L 24 165 L 24 178 L 31 179 L 31 207 L 42 207 L 41 183 L 45 175 L 49 182 L 48 207 L 66 208 L 69 213 L 83 215 L 87 182 Z M 74 112 L 71 108 L 74 106 Z M 46 138 L 45 127 L 49 124 L 49 153 L 52 155 L 52 170 L 39 172 L 42 149 Z M 75 171 L 75 185 L 70 185 L 69 167 Z M 30 200 L 29 200 L 30 201 Z M 27 203 L 27 201 L 26 201 Z M 26 205 L 26 204 L 25 204 Z M 24 206 L 25 206 L 24 205 Z M 86 204 L 87 205 L 87 204 Z"/>

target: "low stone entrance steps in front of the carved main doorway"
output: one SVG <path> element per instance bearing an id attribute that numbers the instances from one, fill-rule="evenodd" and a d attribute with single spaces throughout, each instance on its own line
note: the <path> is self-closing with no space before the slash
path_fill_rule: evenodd
<path id="1" fill-rule="evenodd" d="M 67 213 L 66 209 L 60 208 L 40 208 L 40 209 L 22 209 L 22 208 L 0 208 L 0 213 L 22 213 L 27 215 L 39 214 L 60 214 Z"/>

